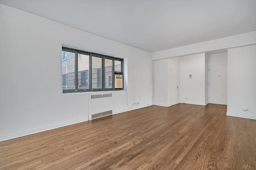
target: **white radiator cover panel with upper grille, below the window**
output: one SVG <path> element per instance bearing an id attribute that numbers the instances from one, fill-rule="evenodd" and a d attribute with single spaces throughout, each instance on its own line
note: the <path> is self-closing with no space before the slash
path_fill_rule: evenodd
<path id="1" fill-rule="evenodd" d="M 89 120 L 92 120 L 92 115 L 105 111 L 114 110 L 114 99 L 110 92 L 93 93 L 88 98 L 88 114 Z"/>

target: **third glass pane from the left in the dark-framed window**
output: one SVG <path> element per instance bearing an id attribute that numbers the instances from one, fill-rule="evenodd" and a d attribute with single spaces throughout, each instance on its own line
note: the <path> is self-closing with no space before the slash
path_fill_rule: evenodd
<path id="1" fill-rule="evenodd" d="M 102 59 L 92 56 L 92 88 L 102 88 Z"/>

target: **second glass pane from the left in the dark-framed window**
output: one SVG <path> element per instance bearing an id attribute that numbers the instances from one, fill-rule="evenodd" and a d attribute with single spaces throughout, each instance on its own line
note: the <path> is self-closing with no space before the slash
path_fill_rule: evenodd
<path id="1" fill-rule="evenodd" d="M 78 89 L 89 89 L 89 55 L 78 54 Z"/>

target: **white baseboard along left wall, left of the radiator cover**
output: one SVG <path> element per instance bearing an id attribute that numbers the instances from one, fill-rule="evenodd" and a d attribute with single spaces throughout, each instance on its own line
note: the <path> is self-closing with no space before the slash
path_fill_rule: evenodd
<path id="1" fill-rule="evenodd" d="M 32 134 L 35 134 L 35 133 L 43 132 L 43 131 L 48 131 L 48 130 L 56 129 L 56 128 L 59 128 L 59 127 L 64 127 L 64 126 L 68 126 L 68 125 L 74 125 L 76 123 L 81 123 L 81 122 L 84 122 L 84 121 L 88 121 L 88 118 L 68 121 L 68 122 L 59 123 L 59 124 L 56 124 L 56 125 L 40 127 L 40 128 L 36 128 L 36 129 L 31 129 L 31 130 L 28 130 L 28 131 L 18 132 L 18 133 L 12 133 L 10 135 L 1 136 L 0 137 L 0 142 L 7 141 L 7 140 L 10 140 L 10 139 L 14 139 L 14 138 L 17 138 L 17 137 L 23 137 L 23 136 L 27 136 L 27 135 L 32 135 Z"/>

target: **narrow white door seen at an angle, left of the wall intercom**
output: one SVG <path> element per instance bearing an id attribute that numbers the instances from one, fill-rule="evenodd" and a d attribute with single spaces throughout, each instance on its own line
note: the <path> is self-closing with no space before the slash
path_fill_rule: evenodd
<path id="1" fill-rule="evenodd" d="M 171 67 L 171 102 L 174 105 L 180 103 L 180 74 L 178 66 Z"/>

